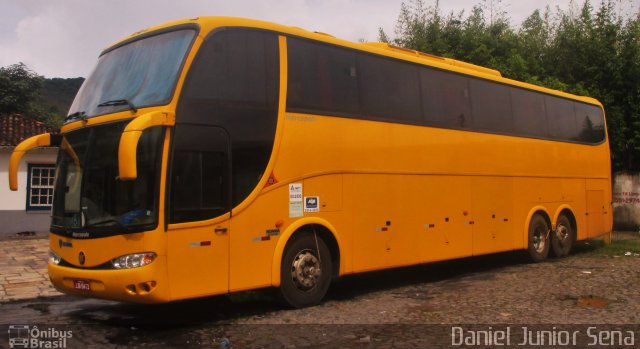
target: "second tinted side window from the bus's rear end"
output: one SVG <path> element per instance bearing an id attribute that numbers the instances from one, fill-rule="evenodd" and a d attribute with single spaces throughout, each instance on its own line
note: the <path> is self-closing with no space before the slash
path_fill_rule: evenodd
<path id="1" fill-rule="evenodd" d="M 554 139 L 577 141 L 578 131 L 573 102 L 559 97 L 545 96 L 549 136 Z"/>

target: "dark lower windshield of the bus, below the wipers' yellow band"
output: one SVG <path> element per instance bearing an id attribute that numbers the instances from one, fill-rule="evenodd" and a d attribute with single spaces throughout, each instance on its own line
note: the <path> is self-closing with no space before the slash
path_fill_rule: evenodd
<path id="1" fill-rule="evenodd" d="M 143 132 L 137 149 L 138 178 L 121 181 L 116 154 L 125 126 L 119 122 L 88 127 L 64 136 L 52 231 L 122 233 L 155 226 L 163 128 Z"/>

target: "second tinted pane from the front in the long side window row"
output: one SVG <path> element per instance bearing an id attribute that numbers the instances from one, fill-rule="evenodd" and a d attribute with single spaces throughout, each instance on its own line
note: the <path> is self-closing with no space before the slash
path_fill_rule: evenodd
<path id="1" fill-rule="evenodd" d="M 358 74 L 363 115 L 407 121 L 422 118 L 416 66 L 360 54 Z"/>

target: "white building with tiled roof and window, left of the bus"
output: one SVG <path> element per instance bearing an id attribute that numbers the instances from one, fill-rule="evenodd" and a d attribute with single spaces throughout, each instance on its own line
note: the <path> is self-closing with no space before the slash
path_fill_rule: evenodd
<path id="1" fill-rule="evenodd" d="M 44 233 L 51 223 L 57 148 L 26 153 L 18 170 L 18 191 L 9 190 L 9 157 L 22 140 L 55 128 L 22 115 L 0 115 L 0 236 Z"/>

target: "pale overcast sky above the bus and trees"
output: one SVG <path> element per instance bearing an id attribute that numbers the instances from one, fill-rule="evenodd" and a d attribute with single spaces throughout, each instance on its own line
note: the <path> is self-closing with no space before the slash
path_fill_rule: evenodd
<path id="1" fill-rule="evenodd" d="M 435 3 L 435 0 L 425 1 Z M 468 13 L 481 1 L 441 0 L 440 8 L 443 13 L 462 10 Z M 23 62 L 47 78 L 86 77 L 98 54 L 111 43 L 152 25 L 198 16 L 253 18 L 329 33 L 351 41 L 376 41 L 378 28 L 393 37 L 402 2 L 0 0 L 0 67 Z M 592 3 L 597 2 L 592 0 Z M 501 0 L 501 3 L 511 22 L 519 24 L 536 8 L 549 5 L 567 9 L 570 0 Z"/>

